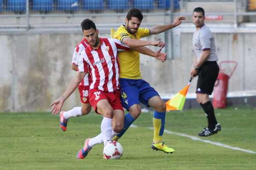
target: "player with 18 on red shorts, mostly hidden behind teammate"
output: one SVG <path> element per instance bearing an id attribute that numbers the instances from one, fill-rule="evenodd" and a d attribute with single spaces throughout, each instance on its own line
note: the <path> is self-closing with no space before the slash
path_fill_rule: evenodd
<path id="1" fill-rule="evenodd" d="M 74 49 L 73 58 L 72 58 L 72 69 L 74 71 L 78 70 L 78 62 L 79 62 L 79 56 L 82 51 L 84 51 L 85 48 L 89 43 L 84 38 L 81 42 L 79 42 L 78 45 L 76 45 L 76 48 Z M 89 102 L 89 84 L 91 82 L 90 74 L 87 73 L 84 77 L 84 79 L 79 83 L 78 90 L 80 94 L 80 100 L 81 100 L 81 107 L 75 107 L 69 111 L 61 111 L 60 114 L 60 126 L 63 131 L 66 131 L 67 129 L 67 122 L 70 117 L 78 117 L 88 114 L 91 111 L 92 106 Z"/>

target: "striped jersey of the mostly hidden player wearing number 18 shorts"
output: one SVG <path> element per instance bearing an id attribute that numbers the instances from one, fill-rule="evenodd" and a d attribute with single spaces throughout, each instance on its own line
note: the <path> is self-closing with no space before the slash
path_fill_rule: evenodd
<path id="1" fill-rule="evenodd" d="M 75 64 L 75 65 L 78 65 L 78 62 L 79 62 L 79 56 L 80 56 L 80 53 L 82 51 L 84 51 L 84 49 L 89 45 L 89 43 L 87 42 L 87 40 L 85 40 L 85 38 L 79 42 L 78 45 L 76 45 L 76 48 L 74 50 L 74 53 L 73 53 L 73 58 L 72 58 L 72 63 Z M 91 77 L 90 77 L 90 74 L 86 74 L 84 76 L 84 79 L 80 82 L 79 85 L 89 85 L 91 82 Z"/>

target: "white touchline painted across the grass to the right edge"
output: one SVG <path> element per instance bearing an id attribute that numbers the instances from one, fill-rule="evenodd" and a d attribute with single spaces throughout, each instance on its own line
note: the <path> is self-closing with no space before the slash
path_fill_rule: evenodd
<path id="1" fill-rule="evenodd" d="M 149 129 L 154 129 L 154 127 L 148 127 Z M 214 144 L 214 145 L 217 145 L 217 146 L 221 146 L 221 147 L 227 147 L 227 148 L 230 148 L 230 149 L 233 149 L 233 150 L 240 150 L 240 151 L 243 151 L 243 152 L 247 152 L 247 153 L 256 153 L 256 152 L 253 152 L 252 150 L 246 150 L 246 149 L 241 149 L 239 147 L 232 147 L 232 146 L 229 146 L 227 144 L 222 144 L 222 143 L 218 143 L 218 142 L 212 142 L 212 141 L 209 141 L 209 140 L 203 140 L 203 139 L 200 139 L 196 136 L 189 136 L 189 135 L 186 135 L 186 134 L 182 134 L 182 133 L 175 133 L 175 132 L 172 132 L 172 131 L 169 131 L 169 130 L 164 130 L 165 133 L 169 133 L 169 134 L 175 134 L 175 135 L 179 135 L 179 136 L 183 136 L 183 137 L 188 137 L 192 140 L 195 140 L 195 141 L 201 141 L 201 142 L 205 142 L 205 143 L 209 143 L 209 144 Z"/>

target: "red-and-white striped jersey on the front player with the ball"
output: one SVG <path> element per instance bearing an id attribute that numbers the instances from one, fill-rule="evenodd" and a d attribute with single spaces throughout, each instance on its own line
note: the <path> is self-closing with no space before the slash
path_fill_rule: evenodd
<path id="1" fill-rule="evenodd" d="M 118 51 L 130 48 L 115 38 L 99 38 L 100 46 L 93 49 L 90 45 L 81 52 L 78 71 L 89 72 L 92 77 L 90 89 L 114 92 L 119 89 Z"/>

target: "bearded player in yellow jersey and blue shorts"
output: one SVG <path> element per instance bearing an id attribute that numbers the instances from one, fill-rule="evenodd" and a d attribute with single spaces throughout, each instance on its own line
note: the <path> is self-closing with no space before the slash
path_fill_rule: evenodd
<path id="1" fill-rule="evenodd" d="M 163 48 L 164 43 L 143 41 L 142 37 L 152 34 L 159 34 L 171 28 L 174 28 L 185 20 L 185 17 L 178 17 L 172 24 L 163 26 L 154 26 L 152 28 L 140 28 L 143 14 L 137 8 L 132 8 L 126 18 L 125 25 L 122 25 L 116 31 L 114 38 L 119 39 L 130 47 L 142 47 L 145 45 L 154 45 Z M 162 60 L 162 62 L 165 60 Z M 166 153 L 175 152 L 174 149 L 167 147 L 162 141 L 163 130 L 165 125 L 166 105 L 160 98 L 157 91 L 152 88 L 148 82 L 141 78 L 140 74 L 140 54 L 137 51 L 119 52 L 120 64 L 120 98 L 123 107 L 129 111 L 125 115 L 125 124 L 122 131 L 113 137 L 112 140 L 117 141 L 130 127 L 132 122 L 140 116 L 140 102 L 147 107 L 154 108 L 153 124 L 154 139 L 151 145 L 153 150 L 161 150 Z"/>

